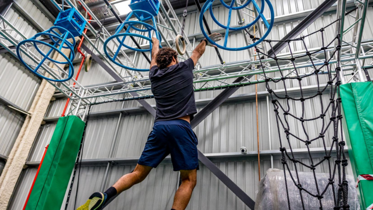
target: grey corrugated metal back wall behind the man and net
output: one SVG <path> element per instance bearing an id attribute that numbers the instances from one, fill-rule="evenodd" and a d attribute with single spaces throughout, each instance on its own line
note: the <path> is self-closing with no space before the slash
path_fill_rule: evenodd
<path id="1" fill-rule="evenodd" d="M 274 0 L 272 1 L 275 5 L 276 16 L 304 11 L 308 9 L 316 8 L 323 0 Z M 227 12 L 221 7 L 214 7 L 214 13 L 217 19 L 226 23 Z M 268 13 L 268 11 L 266 11 Z M 198 14 L 191 12 L 187 15 L 187 21 L 185 30 L 187 34 L 200 33 L 199 24 L 196 22 L 196 16 Z M 308 27 L 302 34 L 308 34 L 316 31 L 322 26 L 329 24 L 334 21 L 335 14 L 328 14 L 320 17 L 310 27 Z M 367 19 L 373 18 L 373 8 L 368 9 Z M 182 17 L 179 17 L 182 20 Z M 212 29 L 217 29 L 215 24 L 212 24 L 212 19 L 207 16 Z M 232 23 L 237 23 L 238 19 L 236 15 L 232 15 Z M 274 26 L 272 32 L 268 38 L 280 39 L 286 33 L 288 33 L 293 27 L 295 27 L 300 21 L 291 21 L 286 23 L 280 23 Z M 352 24 L 353 18 L 346 18 L 346 25 Z M 197 26 L 196 26 L 197 25 Z M 326 42 L 330 42 L 335 34 L 335 26 L 329 27 L 325 34 Z M 167 34 L 166 31 L 164 31 Z M 371 21 L 366 22 L 366 29 L 364 31 L 363 39 L 373 38 L 373 23 Z M 167 35 L 168 36 L 168 35 Z M 351 34 L 346 35 L 346 37 Z M 229 36 L 229 42 L 237 45 L 242 43 L 243 37 L 241 33 L 232 34 Z M 321 46 L 320 36 L 315 35 L 306 42 L 308 48 Z M 100 46 L 101 47 L 101 46 Z M 295 50 L 303 49 L 302 44 L 296 43 L 291 47 Z M 201 58 L 202 66 L 215 65 L 218 62 L 215 52 L 213 49 L 207 48 L 205 55 Z M 234 62 L 249 59 L 246 51 L 231 52 L 220 50 L 224 61 Z M 282 52 L 287 52 L 288 49 L 284 49 Z M 129 54 L 130 58 L 133 58 L 133 54 Z M 137 59 L 139 68 L 146 68 L 146 62 L 144 58 L 139 57 Z M 78 66 L 76 66 L 78 67 Z M 309 72 L 310 69 L 299 69 L 299 72 Z M 144 75 L 147 75 L 145 73 Z M 279 73 L 272 74 L 270 76 L 279 76 Z M 90 72 L 82 72 L 78 80 L 83 85 L 93 85 L 98 83 L 106 83 L 114 81 L 108 76 L 108 74 L 100 68 L 96 63 L 93 62 L 93 67 Z M 312 86 L 317 84 L 315 77 L 304 79 L 304 86 Z M 327 82 L 325 77 L 321 77 L 320 83 L 325 84 Z M 287 88 L 296 88 L 298 85 L 293 81 L 286 81 Z M 281 83 L 271 84 L 272 89 L 281 90 L 283 85 Z M 258 91 L 266 91 L 264 84 L 258 85 Z M 211 99 L 217 96 L 221 91 L 208 91 L 195 93 L 197 100 Z M 240 94 L 251 94 L 255 92 L 255 86 L 247 86 L 240 88 L 234 95 Z M 119 96 L 123 97 L 123 95 Z M 323 103 L 329 101 L 329 96 L 326 94 L 322 96 Z M 270 99 L 271 100 L 271 99 Z M 150 104 L 154 104 L 154 100 L 146 100 Z M 52 102 L 48 108 L 45 117 L 59 116 L 66 103 L 65 99 L 58 99 Z M 283 100 L 281 103 L 284 103 Z M 320 101 L 318 98 L 308 101 L 306 103 L 306 117 L 318 116 L 321 113 Z M 270 103 L 270 116 L 267 114 L 267 101 L 265 95 L 261 95 L 259 98 L 259 132 L 260 132 L 260 148 L 261 150 L 277 150 L 279 145 L 279 134 L 277 131 L 277 124 L 275 115 L 273 112 L 272 104 Z M 93 112 L 113 110 L 120 108 L 131 108 L 139 106 L 135 101 L 130 102 L 119 102 L 109 103 L 93 107 Z M 290 104 L 292 110 L 296 114 L 301 111 L 300 103 L 294 102 Z M 241 146 L 247 147 L 248 151 L 257 150 L 257 134 L 256 134 L 256 110 L 255 100 L 248 98 L 247 100 L 240 102 L 230 102 L 221 105 L 211 115 L 209 115 L 204 121 L 202 121 L 195 129 L 195 133 L 198 136 L 199 144 L 198 149 L 203 153 L 226 153 L 226 152 L 239 152 Z M 200 110 L 200 108 L 199 108 Z M 330 112 L 328 112 L 330 113 Z M 268 120 L 269 119 L 269 120 Z M 150 114 L 136 114 L 127 115 L 123 112 L 121 117 L 119 114 L 101 116 L 99 118 L 91 119 L 87 127 L 87 138 L 84 150 L 84 159 L 97 159 L 97 158 L 130 158 L 139 157 L 142 149 L 146 142 L 146 137 L 152 129 L 154 118 Z M 297 126 L 294 120 L 289 120 L 292 132 L 297 135 L 302 134 L 303 130 Z M 34 146 L 29 155 L 28 161 L 40 161 L 44 151 L 44 147 L 49 143 L 51 135 L 53 134 L 56 122 L 47 123 L 40 127 L 39 134 L 35 139 Z M 118 127 L 117 134 L 115 130 Z M 269 127 L 271 127 L 269 129 Z M 307 123 L 306 129 L 312 135 L 316 135 L 320 130 L 319 121 Z M 270 144 L 271 134 L 271 144 Z M 326 146 L 330 146 L 331 132 L 326 134 Z M 281 135 L 283 133 L 281 132 Z M 281 136 L 283 139 L 284 136 Z M 305 145 L 291 141 L 293 149 L 305 148 Z M 285 146 L 287 143 L 285 143 Z M 311 145 L 313 148 L 322 147 L 322 142 L 313 142 Z M 315 158 L 315 161 L 319 161 L 319 158 Z M 308 159 L 302 159 L 303 162 L 307 163 Z M 245 160 L 232 160 L 232 161 L 214 161 L 214 163 L 230 177 L 242 190 L 244 190 L 251 198 L 255 199 L 255 193 L 257 190 L 257 183 L 259 179 L 258 175 L 258 161 L 256 158 L 248 157 Z M 261 176 L 265 175 L 267 169 L 271 167 L 271 161 L 269 156 L 261 158 Z M 274 156 L 274 167 L 281 168 L 280 157 Z M 120 176 L 125 173 L 129 173 L 134 169 L 134 165 L 111 165 L 108 168 L 108 175 L 106 180 L 106 186 L 103 186 L 104 174 L 106 167 L 102 165 L 85 166 L 82 168 L 81 173 L 81 184 L 79 195 L 77 199 L 77 205 L 81 205 L 85 202 L 87 197 L 93 191 L 102 191 L 108 186 L 112 185 Z M 292 166 L 290 165 L 290 169 Z M 24 202 L 24 193 L 29 188 L 29 182 L 33 179 L 35 169 L 26 169 L 23 172 L 22 178 L 19 181 L 17 189 L 12 198 L 11 205 L 8 210 L 19 209 Z M 299 168 L 300 171 L 309 171 L 303 167 Z M 322 163 L 317 168 L 318 173 L 327 172 L 328 167 L 326 163 Z M 348 167 L 348 174 L 352 174 L 351 166 Z M 244 204 L 233 195 L 233 193 L 226 188 L 211 172 L 204 166 L 200 167 L 197 173 L 198 184 L 193 193 L 192 199 L 188 206 L 188 210 L 248 210 Z M 141 184 L 133 187 L 131 190 L 121 195 L 121 199 L 115 200 L 110 204 L 110 210 L 122 210 L 123 208 L 131 208 L 135 210 L 168 210 L 171 208 L 173 196 L 178 184 L 178 173 L 173 172 L 172 165 L 169 163 L 162 163 L 157 169 L 153 170 L 149 177 Z M 72 195 L 75 195 L 75 188 Z M 69 210 L 73 209 L 72 198 Z M 17 206 L 18 205 L 18 206 Z M 63 205 L 64 207 L 64 205 Z"/>

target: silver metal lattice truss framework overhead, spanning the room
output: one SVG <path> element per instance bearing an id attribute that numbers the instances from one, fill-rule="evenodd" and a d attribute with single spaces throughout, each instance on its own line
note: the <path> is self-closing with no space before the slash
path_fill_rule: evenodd
<path id="1" fill-rule="evenodd" d="M 76 5 L 71 0 L 65 0 L 65 1 L 67 2 L 67 5 L 76 7 Z M 52 0 L 52 2 L 56 5 L 57 8 L 61 9 L 60 4 L 58 4 L 55 0 Z M 77 0 L 77 2 L 81 3 L 82 6 L 87 9 L 88 12 L 92 13 L 90 8 L 84 3 L 83 0 Z M 166 2 L 169 2 L 169 1 L 166 0 Z M 359 9 L 356 10 L 356 15 L 354 16 L 356 17 L 356 22 L 352 26 L 344 30 L 344 33 L 347 33 L 350 30 L 354 29 L 353 37 L 355 38 L 353 38 L 353 40 L 343 40 L 343 47 L 342 47 L 343 51 L 341 53 L 342 54 L 341 63 L 342 63 L 343 71 L 350 71 L 352 68 L 354 72 L 354 75 L 349 80 L 347 80 L 347 82 L 353 79 L 363 81 L 364 77 L 363 77 L 362 69 L 369 67 L 369 65 L 364 66 L 365 59 L 373 58 L 373 43 L 371 41 L 364 42 L 362 40 L 362 33 L 361 33 L 364 29 L 364 22 L 365 22 L 364 20 L 365 20 L 365 17 L 366 17 L 365 14 L 368 8 L 368 0 L 357 1 L 357 2 L 358 2 Z M 169 5 L 171 4 L 168 4 L 168 6 Z M 331 6 L 331 5 L 332 4 L 328 4 L 327 6 Z M 327 9 L 327 7 L 325 6 L 324 8 Z M 323 13 L 326 9 L 320 11 L 320 13 Z M 180 28 L 181 27 L 180 21 L 177 18 L 175 18 L 176 13 L 172 9 L 172 7 L 169 6 L 169 10 L 166 11 L 164 7 L 161 6 L 161 10 L 165 13 L 158 15 L 157 18 L 161 22 L 161 23 L 158 23 L 158 26 L 163 27 L 163 28 L 169 28 L 167 29 L 167 33 L 169 35 L 172 35 L 171 39 L 173 39 L 175 37 L 174 35 L 179 33 L 176 29 L 176 26 L 174 25 L 174 22 L 176 22 L 178 27 Z M 174 18 L 171 18 L 168 13 L 171 13 L 174 16 Z M 349 14 L 349 15 L 352 15 L 352 14 Z M 165 16 L 165 18 L 163 16 Z M 344 18 L 342 16 L 341 18 L 343 20 Z M 100 21 L 94 15 L 92 17 L 93 17 L 93 21 L 95 21 L 100 26 L 101 24 Z M 14 49 L 12 49 L 11 45 L 16 46 L 17 43 L 19 43 L 19 41 L 21 40 L 14 40 L 12 38 L 12 35 L 8 32 L 8 30 L 14 30 L 23 39 L 26 39 L 27 37 L 25 37 L 19 30 L 17 30 L 17 28 L 15 28 L 4 17 L 0 16 L 0 18 L 3 21 L 3 24 L 0 26 L 0 35 L 3 38 L 5 38 L 5 39 L 1 39 L 0 45 L 4 49 L 6 49 L 11 55 L 15 56 Z M 311 19 L 311 21 L 309 22 L 312 22 L 312 21 L 314 21 L 314 19 Z M 299 25 L 303 25 L 303 24 L 299 24 Z M 97 32 L 90 23 L 87 23 L 87 27 L 93 34 Z M 103 28 L 102 35 L 100 36 L 98 40 L 100 45 L 103 45 L 103 42 L 104 42 L 104 39 L 102 37 L 105 38 L 110 35 L 109 32 L 105 29 L 105 27 L 102 27 L 102 28 Z M 70 98 L 71 101 L 82 100 L 87 104 L 90 104 L 96 101 L 96 99 L 94 98 L 100 98 L 98 101 L 112 100 L 113 98 L 110 97 L 112 95 L 132 93 L 132 92 L 138 93 L 140 95 L 140 98 L 151 98 L 151 94 L 149 94 L 150 82 L 149 82 L 148 77 L 143 76 L 141 73 L 135 72 L 135 71 L 129 71 L 125 69 L 119 70 L 111 62 L 108 61 L 105 55 L 103 55 L 100 52 L 99 46 L 93 46 L 93 41 L 87 35 L 84 34 L 84 37 L 88 40 L 88 43 L 90 44 L 89 48 L 93 49 L 93 53 L 96 53 L 98 58 L 107 62 L 109 68 L 106 68 L 105 70 L 108 71 L 109 74 L 113 76 L 113 78 L 117 81 L 117 83 L 98 84 L 94 86 L 83 86 L 76 80 L 71 79 L 70 81 L 62 82 L 62 83 L 50 82 L 53 86 L 55 86 L 67 98 Z M 342 37 L 344 36 L 342 35 Z M 10 45 L 7 41 L 10 42 Z M 162 42 L 162 44 L 168 46 L 170 45 L 170 42 L 172 41 L 174 40 L 166 40 L 164 37 L 164 41 Z M 188 48 L 188 51 L 190 52 L 191 47 L 192 47 L 191 43 L 188 42 L 187 46 L 190 48 L 190 49 Z M 335 46 L 331 46 L 327 51 L 331 52 L 334 47 Z M 359 50 L 356 50 L 357 48 L 359 48 Z M 129 59 L 129 56 L 123 50 L 121 50 L 121 54 L 123 58 L 125 58 L 125 60 L 120 60 L 118 62 L 122 62 L 122 63 L 127 62 L 127 64 L 131 63 L 131 65 L 136 66 L 132 61 L 136 60 L 136 56 L 138 56 L 138 54 L 135 53 L 134 59 Z M 294 54 L 303 55 L 305 54 L 305 51 L 294 52 Z M 38 60 L 38 58 L 32 55 L 32 52 L 29 52 L 27 56 L 29 56 L 32 59 L 35 59 L 36 61 Z M 252 57 L 254 56 L 256 55 L 252 53 Z M 278 54 L 279 58 L 289 58 L 289 56 L 290 55 L 288 53 Z M 316 53 L 313 56 L 312 62 L 314 62 L 316 66 L 323 65 L 323 62 L 320 62 L 320 57 L 322 56 L 323 55 L 321 52 Z M 274 62 L 273 59 L 265 59 L 262 61 L 268 64 L 265 68 L 266 73 L 279 71 L 278 68 L 271 67 L 271 64 L 273 64 Z M 333 59 L 329 63 L 334 64 L 336 62 L 337 61 Z M 287 67 L 287 65 L 288 64 L 281 65 L 280 69 L 282 71 L 291 72 L 292 67 Z M 310 60 L 304 60 L 302 62 L 297 63 L 296 67 L 305 68 L 305 67 L 310 67 L 311 65 L 312 64 Z M 252 66 L 254 68 L 250 68 Z M 194 71 L 195 91 L 217 90 L 217 89 L 223 89 L 223 88 L 238 87 L 238 86 L 245 86 L 245 85 L 251 85 L 251 84 L 256 84 L 256 83 L 262 83 L 264 82 L 263 77 L 258 77 L 258 80 L 252 80 L 249 78 L 252 75 L 261 76 L 261 73 L 263 73 L 261 69 L 256 69 L 255 66 L 259 66 L 259 61 L 247 60 L 247 61 L 236 62 L 232 64 L 227 63 L 225 65 L 216 65 L 216 66 L 209 66 L 209 67 L 203 67 L 203 68 L 197 67 Z M 43 69 L 46 72 L 50 73 L 51 75 L 56 76 L 53 73 L 53 70 L 48 68 L 47 66 L 43 65 Z M 240 78 L 240 77 L 244 77 L 244 79 L 242 81 L 235 82 L 235 79 Z M 279 79 L 279 78 L 274 78 L 274 79 Z M 74 83 L 76 85 L 73 85 Z M 131 100 L 131 99 L 135 99 L 135 98 L 128 97 L 125 100 Z"/>

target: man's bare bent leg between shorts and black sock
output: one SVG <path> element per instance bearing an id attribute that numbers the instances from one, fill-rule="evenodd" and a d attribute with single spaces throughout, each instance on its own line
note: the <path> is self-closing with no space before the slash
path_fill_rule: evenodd
<path id="1" fill-rule="evenodd" d="M 150 166 L 136 165 L 135 170 L 132 173 L 122 176 L 113 187 L 116 189 L 117 194 L 130 189 L 132 186 L 144 181 L 152 170 Z"/>

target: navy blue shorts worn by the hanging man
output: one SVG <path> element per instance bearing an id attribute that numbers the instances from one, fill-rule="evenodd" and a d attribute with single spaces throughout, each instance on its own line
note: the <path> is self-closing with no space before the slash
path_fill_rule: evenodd
<path id="1" fill-rule="evenodd" d="M 198 168 L 197 136 L 183 119 L 157 121 L 138 164 L 156 168 L 171 154 L 174 171 Z"/>

